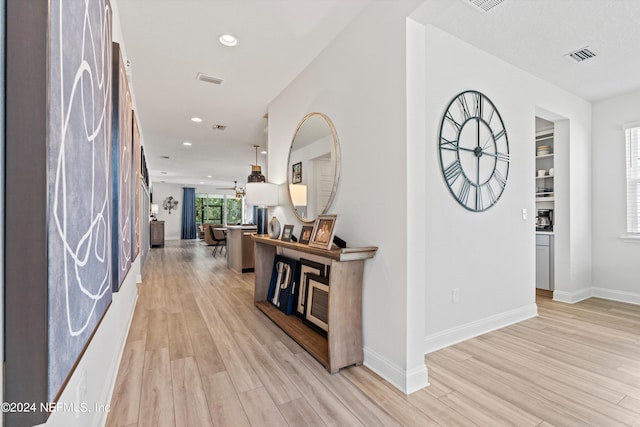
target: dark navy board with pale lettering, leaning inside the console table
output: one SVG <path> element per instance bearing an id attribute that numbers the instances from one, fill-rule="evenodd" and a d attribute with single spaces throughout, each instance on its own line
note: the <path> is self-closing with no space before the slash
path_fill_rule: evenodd
<path id="1" fill-rule="evenodd" d="M 295 284 L 299 278 L 299 262 L 282 255 L 276 255 L 267 300 L 285 314 L 293 312 Z"/>

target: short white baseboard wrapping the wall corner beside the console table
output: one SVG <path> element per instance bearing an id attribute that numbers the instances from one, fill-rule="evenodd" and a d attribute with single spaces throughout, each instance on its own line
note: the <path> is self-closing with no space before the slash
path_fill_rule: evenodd
<path id="1" fill-rule="evenodd" d="M 365 347 L 364 365 L 405 394 L 411 394 L 429 385 L 429 372 L 425 364 L 405 370 Z"/>

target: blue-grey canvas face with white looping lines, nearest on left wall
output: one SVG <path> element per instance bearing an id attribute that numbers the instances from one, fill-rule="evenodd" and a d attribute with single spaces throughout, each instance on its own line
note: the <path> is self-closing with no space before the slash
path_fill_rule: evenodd
<path id="1" fill-rule="evenodd" d="M 108 1 L 51 0 L 49 402 L 111 302 L 111 54 Z"/>

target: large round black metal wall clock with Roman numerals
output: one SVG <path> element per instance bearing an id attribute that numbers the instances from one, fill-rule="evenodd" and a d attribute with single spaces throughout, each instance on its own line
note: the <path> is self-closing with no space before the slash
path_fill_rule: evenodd
<path id="1" fill-rule="evenodd" d="M 468 90 L 451 100 L 440 123 L 440 167 L 453 197 L 482 212 L 496 204 L 509 176 L 509 139 L 489 98 Z"/>

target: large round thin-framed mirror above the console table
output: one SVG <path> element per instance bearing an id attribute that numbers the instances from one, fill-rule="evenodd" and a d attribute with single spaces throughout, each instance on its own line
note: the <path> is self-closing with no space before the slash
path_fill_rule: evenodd
<path id="1" fill-rule="evenodd" d="M 298 219 L 327 213 L 340 177 L 340 145 L 329 117 L 310 113 L 298 124 L 287 163 L 289 203 Z"/>

